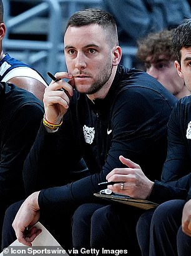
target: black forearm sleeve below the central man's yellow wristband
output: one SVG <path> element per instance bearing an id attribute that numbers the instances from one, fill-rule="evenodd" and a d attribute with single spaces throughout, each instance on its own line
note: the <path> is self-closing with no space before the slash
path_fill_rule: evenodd
<path id="1" fill-rule="evenodd" d="M 69 115 L 57 132 L 47 132 L 41 122 L 36 140 L 24 162 L 23 178 L 27 195 L 67 184 L 81 175 L 80 170 L 84 174 L 86 165 L 81 159 L 68 118 Z M 74 170 L 78 171 L 75 175 Z"/>

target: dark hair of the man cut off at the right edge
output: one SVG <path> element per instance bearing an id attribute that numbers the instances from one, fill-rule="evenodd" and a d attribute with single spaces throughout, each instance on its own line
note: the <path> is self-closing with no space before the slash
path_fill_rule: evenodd
<path id="1" fill-rule="evenodd" d="M 172 49 L 180 64 L 180 50 L 185 47 L 191 47 L 191 19 L 184 19 L 175 29 L 172 37 Z"/>

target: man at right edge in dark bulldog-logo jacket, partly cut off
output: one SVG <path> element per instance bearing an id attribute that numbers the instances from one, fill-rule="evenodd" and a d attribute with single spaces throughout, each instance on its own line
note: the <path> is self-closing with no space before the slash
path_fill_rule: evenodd
<path id="1" fill-rule="evenodd" d="M 177 72 L 191 91 L 191 19 L 185 19 L 175 29 L 172 47 Z M 184 200 L 169 200 L 156 210 L 145 212 L 137 224 L 137 236 L 142 255 L 191 254 L 191 98 L 180 99 L 169 119 L 169 147 L 162 172 L 165 184 L 187 191 Z M 161 197 L 161 188 L 158 198 Z M 164 199 L 168 199 L 164 197 Z M 177 199 L 177 197 L 174 197 Z M 147 229 L 146 229 L 147 227 Z M 145 241 L 149 237 L 149 241 Z"/>

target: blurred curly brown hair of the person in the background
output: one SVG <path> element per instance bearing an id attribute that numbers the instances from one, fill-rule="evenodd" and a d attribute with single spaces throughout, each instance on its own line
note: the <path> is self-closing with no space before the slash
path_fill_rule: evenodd
<path id="1" fill-rule="evenodd" d="M 172 51 L 172 36 L 174 29 L 164 29 L 159 32 L 148 34 L 143 39 L 137 41 L 137 58 L 145 62 L 148 56 L 152 56 L 151 61 L 155 62 L 160 55 L 169 57 L 170 61 L 175 61 L 175 54 Z"/>

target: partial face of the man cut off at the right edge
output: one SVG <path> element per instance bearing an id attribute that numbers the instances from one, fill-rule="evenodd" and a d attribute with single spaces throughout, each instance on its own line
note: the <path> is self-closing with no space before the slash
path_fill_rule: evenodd
<path id="1" fill-rule="evenodd" d="M 175 67 L 177 68 L 179 76 L 184 79 L 185 86 L 191 92 L 191 47 L 182 48 L 180 54 L 180 64 L 175 61 Z"/>

